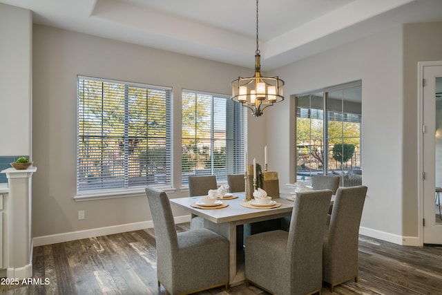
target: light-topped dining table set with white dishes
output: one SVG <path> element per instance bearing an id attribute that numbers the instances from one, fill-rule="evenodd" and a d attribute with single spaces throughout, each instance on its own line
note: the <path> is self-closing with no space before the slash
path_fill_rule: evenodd
<path id="1" fill-rule="evenodd" d="M 238 225 L 291 216 L 294 201 L 287 200 L 290 194 L 281 193 L 273 198 L 274 206 L 262 207 L 244 200 L 244 192 L 233 193 L 234 198 L 220 199 L 217 206 L 198 205 L 201 196 L 173 198 L 171 203 L 189 213 L 204 218 L 204 228 L 215 231 L 229 240 L 229 285 L 238 285 L 245 280 L 244 255 L 237 252 L 236 229 Z M 238 255 L 237 255 L 238 254 Z"/>

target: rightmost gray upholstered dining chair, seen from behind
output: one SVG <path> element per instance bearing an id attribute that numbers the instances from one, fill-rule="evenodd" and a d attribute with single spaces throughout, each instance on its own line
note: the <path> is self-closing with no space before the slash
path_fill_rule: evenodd
<path id="1" fill-rule="evenodd" d="M 336 192 L 330 224 L 323 245 L 323 281 L 334 286 L 358 282 L 359 225 L 367 187 L 340 187 Z"/>

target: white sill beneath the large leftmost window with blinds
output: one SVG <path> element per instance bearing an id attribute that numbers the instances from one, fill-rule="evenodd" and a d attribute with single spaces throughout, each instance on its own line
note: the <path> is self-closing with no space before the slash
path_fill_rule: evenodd
<path id="1" fill-rule="evenodd" d="M 176 191 L 173 187 L 156 187 L 157 189 L 161 189 L 166 191 L 166 193 L 173 193 Z M 118 190 L 106 190 L 106 191 L 93 191 L 93 192 L 84 192 L 81 194 L 77 194 L 74 196 L 75 202 L 83 202 L 83 201 L 95 201 L 95 200 L 108 200 L 115 198 L 131 198 L 131 197 L 140 197 L 146 196 L 146 187 L 137 187 L 132 189 L 118 189 Z"/>

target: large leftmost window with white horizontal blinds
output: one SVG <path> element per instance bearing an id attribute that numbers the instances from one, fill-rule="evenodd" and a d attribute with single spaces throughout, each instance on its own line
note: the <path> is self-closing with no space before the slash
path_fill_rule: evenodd
<path id="1" fill-rule="evenodd" d="M 77 79 L 77 193 L 171 186 L 171 89 Z"/>

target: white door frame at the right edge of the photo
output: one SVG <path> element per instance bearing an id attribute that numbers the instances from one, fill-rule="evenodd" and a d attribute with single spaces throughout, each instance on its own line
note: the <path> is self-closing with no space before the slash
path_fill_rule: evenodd
<path id="1" fill-rule="evenodd" d="M 423 170 L 423 72 L 426 66 L 442 66 L 442 61 L 418 61 L 417 99 L 418 99 L 418 238 L 419 245 L 423 246 L 423 218 L 424 218 L 424 173 Z"/>

